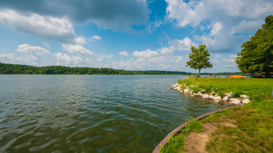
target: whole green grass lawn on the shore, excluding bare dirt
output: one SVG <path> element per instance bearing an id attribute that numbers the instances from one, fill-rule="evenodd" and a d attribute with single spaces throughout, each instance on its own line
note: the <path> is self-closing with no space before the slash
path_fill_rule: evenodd
<path id="1" fill-rule="evenodd" d="M 178 80 L 179 84 L 193 85 L 191 90 L 203 93 L 229 93 L 234 97 L 240 94 L 250 96 L 247 105 L 211 114 L 199 121 L 201 126 L 210 122 L 217 126 L 206 144 L 207 152 L 273 152 L 273 98 L 271 97 L 273 79 L 239 79 L 239 78 L 192 78 Z M 231 122 L 234 127 L 219 124 Z M 196 123 L 194 123 L 196 124 Z M 200 126 L 190 131 L 200 132 Z M 189 128 L 188 128 L 189 129 Z M 161 152 L 183 152 L 185 135 L 183 130 L 170 140 Z M 184 131 L 185 131 L 184 130 Z M 179 140 L 176 140 L 179 139 Z M 169 149 L 170 148 L 170 149 Z"/>

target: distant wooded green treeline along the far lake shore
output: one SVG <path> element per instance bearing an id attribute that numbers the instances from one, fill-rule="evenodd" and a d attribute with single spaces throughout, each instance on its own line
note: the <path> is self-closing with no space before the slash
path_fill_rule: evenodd
<path id="1" fill-rule="evenodd" d="M 196 75 L 195 73 L 179 71 L 126 71 L 111 68 L 91 68 L 91 67 L 64 67 L 47 66 L 34 67 L 20 64 L 5 64 L 0 62 L 0 74 L 120 74 L 120 75 Z M 201 73 L 201 75 L 210 75 L 211 73 Z M 213 73 L 215 75 L 243 75 L 241 72 Z"/>

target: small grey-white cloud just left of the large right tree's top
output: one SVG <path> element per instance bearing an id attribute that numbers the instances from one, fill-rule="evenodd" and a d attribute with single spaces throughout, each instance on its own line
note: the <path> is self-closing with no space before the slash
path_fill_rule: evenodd
<path id="1" fill-rule="evenodd" d="M 265 21 L 262 19 L 255 20 L 255 21 L 241 21 L 238 25 L 231 27 L 232 31 L 231 34 L 236 33 L 248 33 L 251 31 L 257 31 L 261 28 L 261 25 L 265 24 Z"/>

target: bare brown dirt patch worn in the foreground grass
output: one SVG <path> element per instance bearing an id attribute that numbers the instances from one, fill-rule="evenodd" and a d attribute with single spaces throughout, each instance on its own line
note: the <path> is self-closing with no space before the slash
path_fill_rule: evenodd
<path id="1" fill-rule="evenodd" d="M 230 121 L 230 120 L 229 120 Z M 236 125 L 232 124 L 231 122 L 219 122 L 221 126 L 231 126 L 235 127 Z M 186 136 L 186 153 L 207 153 L 206 151 L 206 143 L 211 140 L 211 134 L 215 130 L 218 129 L 217 126 L 211 123 L 203 123 L 204 131 L 196 133 L 191 132 L 189 135 Z"/>

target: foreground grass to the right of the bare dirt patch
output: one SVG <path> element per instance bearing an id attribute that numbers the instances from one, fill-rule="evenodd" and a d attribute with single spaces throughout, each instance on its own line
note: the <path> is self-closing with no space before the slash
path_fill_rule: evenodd
<path id="1" fill-rule="evenodd" d="M 200 120 L 219 128 L 206 145 L 208 152 L 273 152 L 273 101 L 251 103 Z M 229 120 L 237 127 L 218 124 Z"/>

